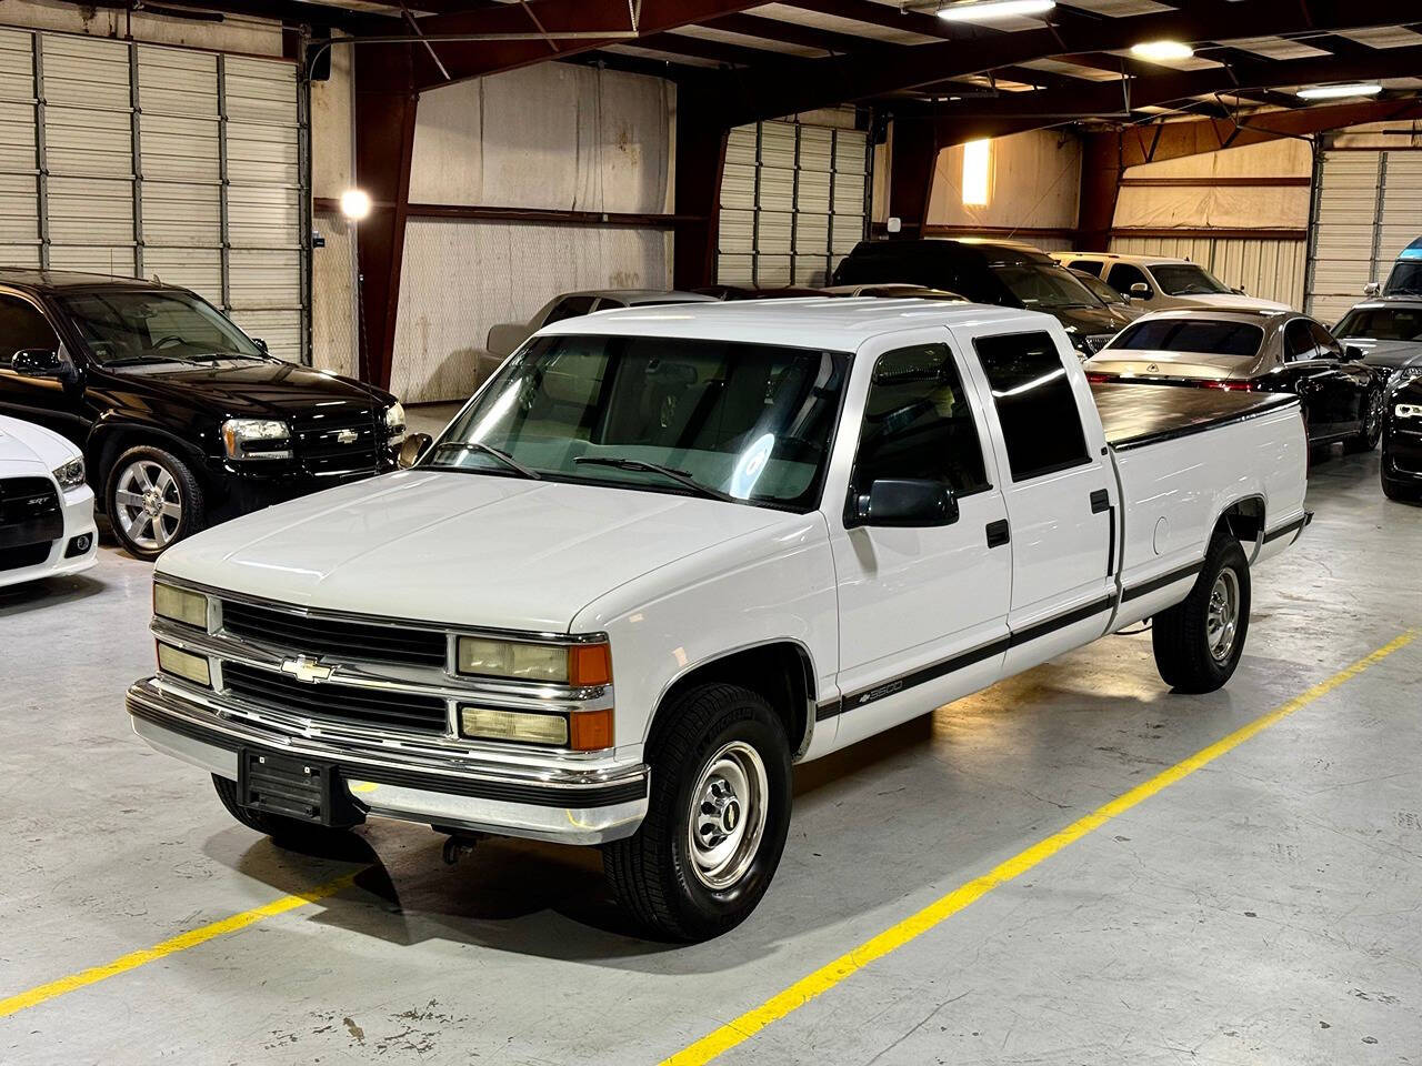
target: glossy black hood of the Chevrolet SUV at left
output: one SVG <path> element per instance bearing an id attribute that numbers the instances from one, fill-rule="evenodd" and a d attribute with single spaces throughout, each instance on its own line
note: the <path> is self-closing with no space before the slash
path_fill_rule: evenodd
<path id="1" fill-rule="evenodd" d="M 292 414 L 368 411 L 392 398 L 357 381 L 290 362 L 225 360 L 203 365 L 161 362 L 111 371 L 125 385 L 142 382 L 172 399 L 219 408 L 225 415 L 284 418 Z"/>

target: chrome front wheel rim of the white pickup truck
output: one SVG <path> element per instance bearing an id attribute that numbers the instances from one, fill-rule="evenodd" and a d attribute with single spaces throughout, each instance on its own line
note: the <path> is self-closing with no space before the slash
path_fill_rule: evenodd
<path id="1" fill-rule="evenodd" d="M 729 888 L 751 867 L 765 834 L 768 795 L 765 763 L 744 741 L 722 745 L 701 770 L 691 789 L 687 844 L 707 888 Z"/>

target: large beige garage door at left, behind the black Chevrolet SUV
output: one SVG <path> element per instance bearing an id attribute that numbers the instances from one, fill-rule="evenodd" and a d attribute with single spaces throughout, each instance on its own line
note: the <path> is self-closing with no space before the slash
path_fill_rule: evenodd
<path id="1" fill-rule="evenodd" d="M 0 263 L 156 277 L 309 360 L 294 64 L 0 30 Z"/>

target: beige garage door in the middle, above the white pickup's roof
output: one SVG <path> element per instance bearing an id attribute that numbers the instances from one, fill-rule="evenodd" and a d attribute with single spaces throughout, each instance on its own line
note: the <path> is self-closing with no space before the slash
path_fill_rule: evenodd
<path id="1" fill-rule="evenodd" d="M 825 284 L 865 239 L 869 135 L 803 122 L 737 126 L 721 179 L 717 279 Z"/>

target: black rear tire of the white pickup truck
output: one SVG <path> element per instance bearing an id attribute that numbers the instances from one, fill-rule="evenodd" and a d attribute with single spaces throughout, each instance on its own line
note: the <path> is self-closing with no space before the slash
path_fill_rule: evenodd
<path id="1" fill-rule="evenodd" d="M 1212 634 L 1212 601 L 1217 594 L 1231 594 L 1227 574 L 1233 576 L 1234 624 L 1221 655 L 1217 654 L 1221 645 Z M 1176 692 L 1214 692 L 1223 688 L 1244 652 L 1249 613 L 1249 560 L 1234 537 L 1216 532 L 1190 594 L 1158 614 L 1150 627 L 1160 679 Z"/>

